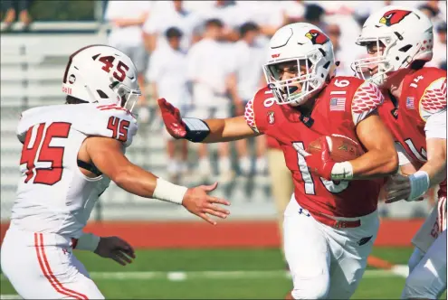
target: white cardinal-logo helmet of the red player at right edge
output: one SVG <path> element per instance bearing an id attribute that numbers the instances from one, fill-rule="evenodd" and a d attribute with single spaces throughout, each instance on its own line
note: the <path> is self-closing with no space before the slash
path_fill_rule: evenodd
<path id="1" fill-rule="evenodd" d="M 433 34 L 433 23 L 418 9 L 386 6 L 368 17 L 357 38 L 361 46 L 374 43 L 376 55 L 354 61 L 352 69 L 358 78 L 381 86 L 390 72 L 408 68 L 413 61 L 431 61 Z"/>

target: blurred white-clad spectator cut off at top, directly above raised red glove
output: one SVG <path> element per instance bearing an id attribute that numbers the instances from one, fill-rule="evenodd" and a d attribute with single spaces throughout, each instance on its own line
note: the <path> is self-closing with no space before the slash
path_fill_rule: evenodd
<path id="1" fill-rule="evenodd" d="M 185 1 L 159 1 L 153 14 L 143 25 L 145 48 L 153 52 L 158 43 L 167 43 L 165 33 L 170 27 L 182 30 L 180 47 L 186 51 L 193 40 L 193 31 L 198 22 L 198 16 L 185 9 Z"/>

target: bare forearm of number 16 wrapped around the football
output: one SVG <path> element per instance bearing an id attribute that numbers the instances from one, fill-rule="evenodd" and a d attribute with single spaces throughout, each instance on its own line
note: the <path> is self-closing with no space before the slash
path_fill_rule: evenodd
<path id="1" fill-rule="evenodd" d="M 378 178 L 396 173 L 398 156 L 395 149 L 394 151 L 373 149 L 349 163 L 353 167 L 354 179 Z"/>

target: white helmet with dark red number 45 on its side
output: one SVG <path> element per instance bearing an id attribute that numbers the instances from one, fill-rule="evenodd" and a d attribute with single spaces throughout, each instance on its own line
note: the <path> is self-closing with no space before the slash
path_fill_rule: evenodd
<path id="1" fill-rule="evenodd" d="M 134 62 L 108 45 L 90 45 L 71 54 L 62 91 L 90 103 L 115 101 L 129 111 L 141 95 Z"/>

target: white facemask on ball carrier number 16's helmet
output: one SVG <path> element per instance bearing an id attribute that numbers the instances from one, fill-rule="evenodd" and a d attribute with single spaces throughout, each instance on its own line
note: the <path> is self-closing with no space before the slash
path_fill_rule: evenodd
<path id="1" fill-rule="evenodd" d="M 272 89 L 279 105 L 299 106 L 323 86 L 325 79 L 319 78 L 317 74 L 321 58 L 321 52 L 316 51 L 295 60 L 268 63 L 263 66 L 268 87 Z M 295 76 L 282 80 L 284 70 Z"/>

